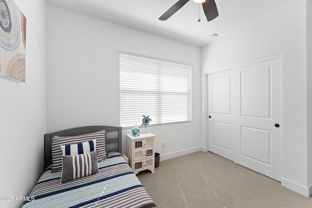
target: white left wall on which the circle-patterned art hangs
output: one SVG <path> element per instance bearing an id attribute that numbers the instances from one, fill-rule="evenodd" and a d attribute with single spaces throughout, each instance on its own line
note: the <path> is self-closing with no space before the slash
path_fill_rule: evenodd
<path id="1" fill-rule="evenodd" d="M 0 196 L 28 196 L 43 170 L 46 132 L 46 3 L 15 0 L 27 19 L 26 82 L 0 77 Z M 18 208 L 22 201 L 3 202 Z"/>

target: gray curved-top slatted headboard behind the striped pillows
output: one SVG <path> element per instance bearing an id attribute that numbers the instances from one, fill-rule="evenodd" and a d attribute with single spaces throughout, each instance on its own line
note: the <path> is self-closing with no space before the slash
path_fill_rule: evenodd
<path id="1" fill-rule="evenodd" d="M 51 139 L 54 136 L 77 136 L 86 133 L 94 133 L 106 130 L 106 149 L 107 151 L 118 151 L 121 153 L 121 127 L 113 126 L 86 126 L 73 129 L 62 130 L 59 132 L 44 134 L 44 169 L 51 164 Z"/>

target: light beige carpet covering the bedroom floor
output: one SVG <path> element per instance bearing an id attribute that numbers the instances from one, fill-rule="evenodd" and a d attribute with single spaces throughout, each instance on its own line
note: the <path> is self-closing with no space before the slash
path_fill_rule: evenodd
<path id="1" fill-rule="evenodd" d="M 137 174 L 158 208 L 312 208 L 312 198 L 211 152 L 160 161 Z"/>

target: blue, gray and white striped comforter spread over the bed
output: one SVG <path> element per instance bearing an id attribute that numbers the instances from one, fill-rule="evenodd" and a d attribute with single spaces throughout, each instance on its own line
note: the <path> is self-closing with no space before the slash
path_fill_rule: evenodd
<path id="1" fill-rule="evenodd" d="M 22 208 L 156 208 L 120 153 L 98 163 L 100 172 L 60 184 L 48 168 Z"/>

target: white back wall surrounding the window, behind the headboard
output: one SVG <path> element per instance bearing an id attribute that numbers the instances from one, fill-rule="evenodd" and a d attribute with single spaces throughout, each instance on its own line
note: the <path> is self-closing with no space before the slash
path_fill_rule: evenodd
<path id="1" fill-rule="evenodd" d="M 200 49 L 52 4 L 47 6 L 47 130 L 119 126 L 119 55 L 124 51 L 192 66 L 192 122 L 148 127 L 162 159 L 201 150 Z M 140 122 L 140 121 L 138 121 Z M 123 131 L 123 151 L 126 133 Z M 182 142 L 181 142 L 182 141 Z"/>

